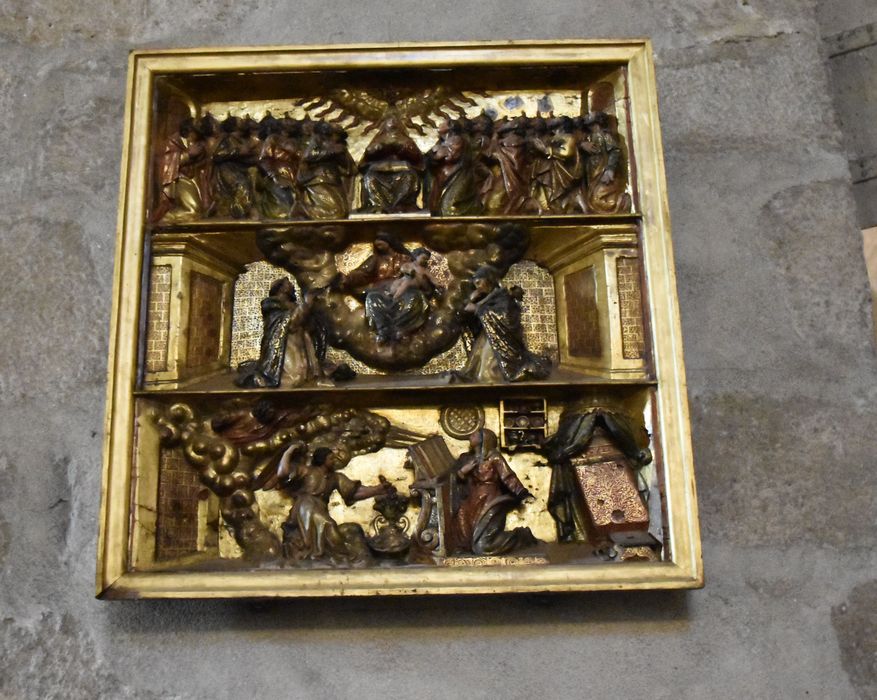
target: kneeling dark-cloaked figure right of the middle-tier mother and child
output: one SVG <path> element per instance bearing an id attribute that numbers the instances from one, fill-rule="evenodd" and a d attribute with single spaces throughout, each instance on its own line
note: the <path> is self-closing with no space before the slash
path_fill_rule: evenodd
<path id="1" fill-rule="evenodd" d="M 551 371 L 546 357 L 534 355 L 524 342 L 520 287 L 499 284 L 499 271 L 489 265 L 472 277 L 475 287 L 465 311 L 472 314 L 475 340 L 465 367 L 452 381 L 520 382 L 544 379 Z"/>

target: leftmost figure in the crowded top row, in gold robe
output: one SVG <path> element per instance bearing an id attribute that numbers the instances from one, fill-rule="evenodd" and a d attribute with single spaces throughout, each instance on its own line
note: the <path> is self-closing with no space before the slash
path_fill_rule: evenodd
<path id="1" fill-rule="evenodd" d="M 159 159 L 161 188 L 152 221 L 192 221 L 204 214 L 206 183 L 201 174 L 207 159 L 206 141 L 191 119 L 184 119 L 177 133 L 168 138 Z"/>

